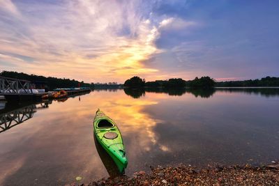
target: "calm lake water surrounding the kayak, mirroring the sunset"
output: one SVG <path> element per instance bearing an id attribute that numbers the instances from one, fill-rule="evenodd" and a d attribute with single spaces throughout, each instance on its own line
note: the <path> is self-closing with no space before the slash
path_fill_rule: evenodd
<path id="1" fill-rule="evenodd" d="M 9 129 L 1 124 L 0 185 L 64 185 L 77 176 L 85 183 L 109 176 L 113 165 L 93 137 L 98 108 L 121 130 L 128 175 L 149 166 L 266 164 L 279 158 L 278 88 L 119 89 L 1 108 L 1 123 L 17 114 L 26 121 Z"/>

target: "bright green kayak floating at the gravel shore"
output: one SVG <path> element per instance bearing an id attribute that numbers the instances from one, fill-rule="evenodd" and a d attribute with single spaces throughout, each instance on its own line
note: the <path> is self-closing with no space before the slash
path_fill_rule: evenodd
<path id="1" fill-rule="evenodd" d="M 128 160 L 121 133 L 111 118 L 105 116 L 103 111 L 96 111 L 93 121 L 94 133 L 101 146 L 112 157 L 119 171 L 123 173 L 127 167 Z"/>

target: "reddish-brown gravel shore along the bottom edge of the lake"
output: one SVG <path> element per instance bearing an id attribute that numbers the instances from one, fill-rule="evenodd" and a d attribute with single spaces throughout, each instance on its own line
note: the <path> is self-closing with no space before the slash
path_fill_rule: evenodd
<path id="1" fill-rule="evenodd" d="M 151 167 L 150 173 L 139 171 L 131 177 L 103 178 L 80 185 L 279 185 L 279 164 L 215 166 L 206 169 L 186 165 Z"/>

